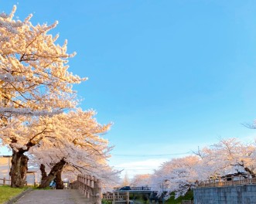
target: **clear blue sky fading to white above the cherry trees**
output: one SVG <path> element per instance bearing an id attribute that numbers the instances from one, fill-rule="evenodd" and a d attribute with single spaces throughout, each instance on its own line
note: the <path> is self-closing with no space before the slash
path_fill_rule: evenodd
<path id="1" fill-rule="evenodd" d="M 70 71 L 84 110 L 114 122 L 111 165 L 152 172 L 218 138 L 252 141 L 256 118 L 256 2 L 0 0 L 0 10 L 54 33 L 77 52 Z M 53 33 L 53 34 L 54 34 Z"/>

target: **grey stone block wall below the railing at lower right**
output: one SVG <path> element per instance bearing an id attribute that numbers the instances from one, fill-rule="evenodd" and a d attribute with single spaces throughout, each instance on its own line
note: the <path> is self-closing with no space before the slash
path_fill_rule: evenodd
<path id="1" fill-rule="evenodd" d="M 256 185 L 196 188 L 194 204 L 256 204 Z"/>

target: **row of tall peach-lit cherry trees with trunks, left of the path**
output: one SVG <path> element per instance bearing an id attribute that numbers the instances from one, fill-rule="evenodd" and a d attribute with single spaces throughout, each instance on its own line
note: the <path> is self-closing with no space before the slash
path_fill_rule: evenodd
<path id="1" fill-rule="evenodd" d="M 75 53 L 49 35 L 57 22 L 33 26 L 32 15 L 15 20 L 15 9 L 0 14 L 0 138 L 12 149 L 12 187 L 25 185 L 29 159 L 42 172 L 40 188 L 61 181 L 63 171 L 94 175 L 107 185 L 117 175 L 101 137 L 111 124 L 78 107 L 72 86 L 86 78 L 68 71 Z"/>

